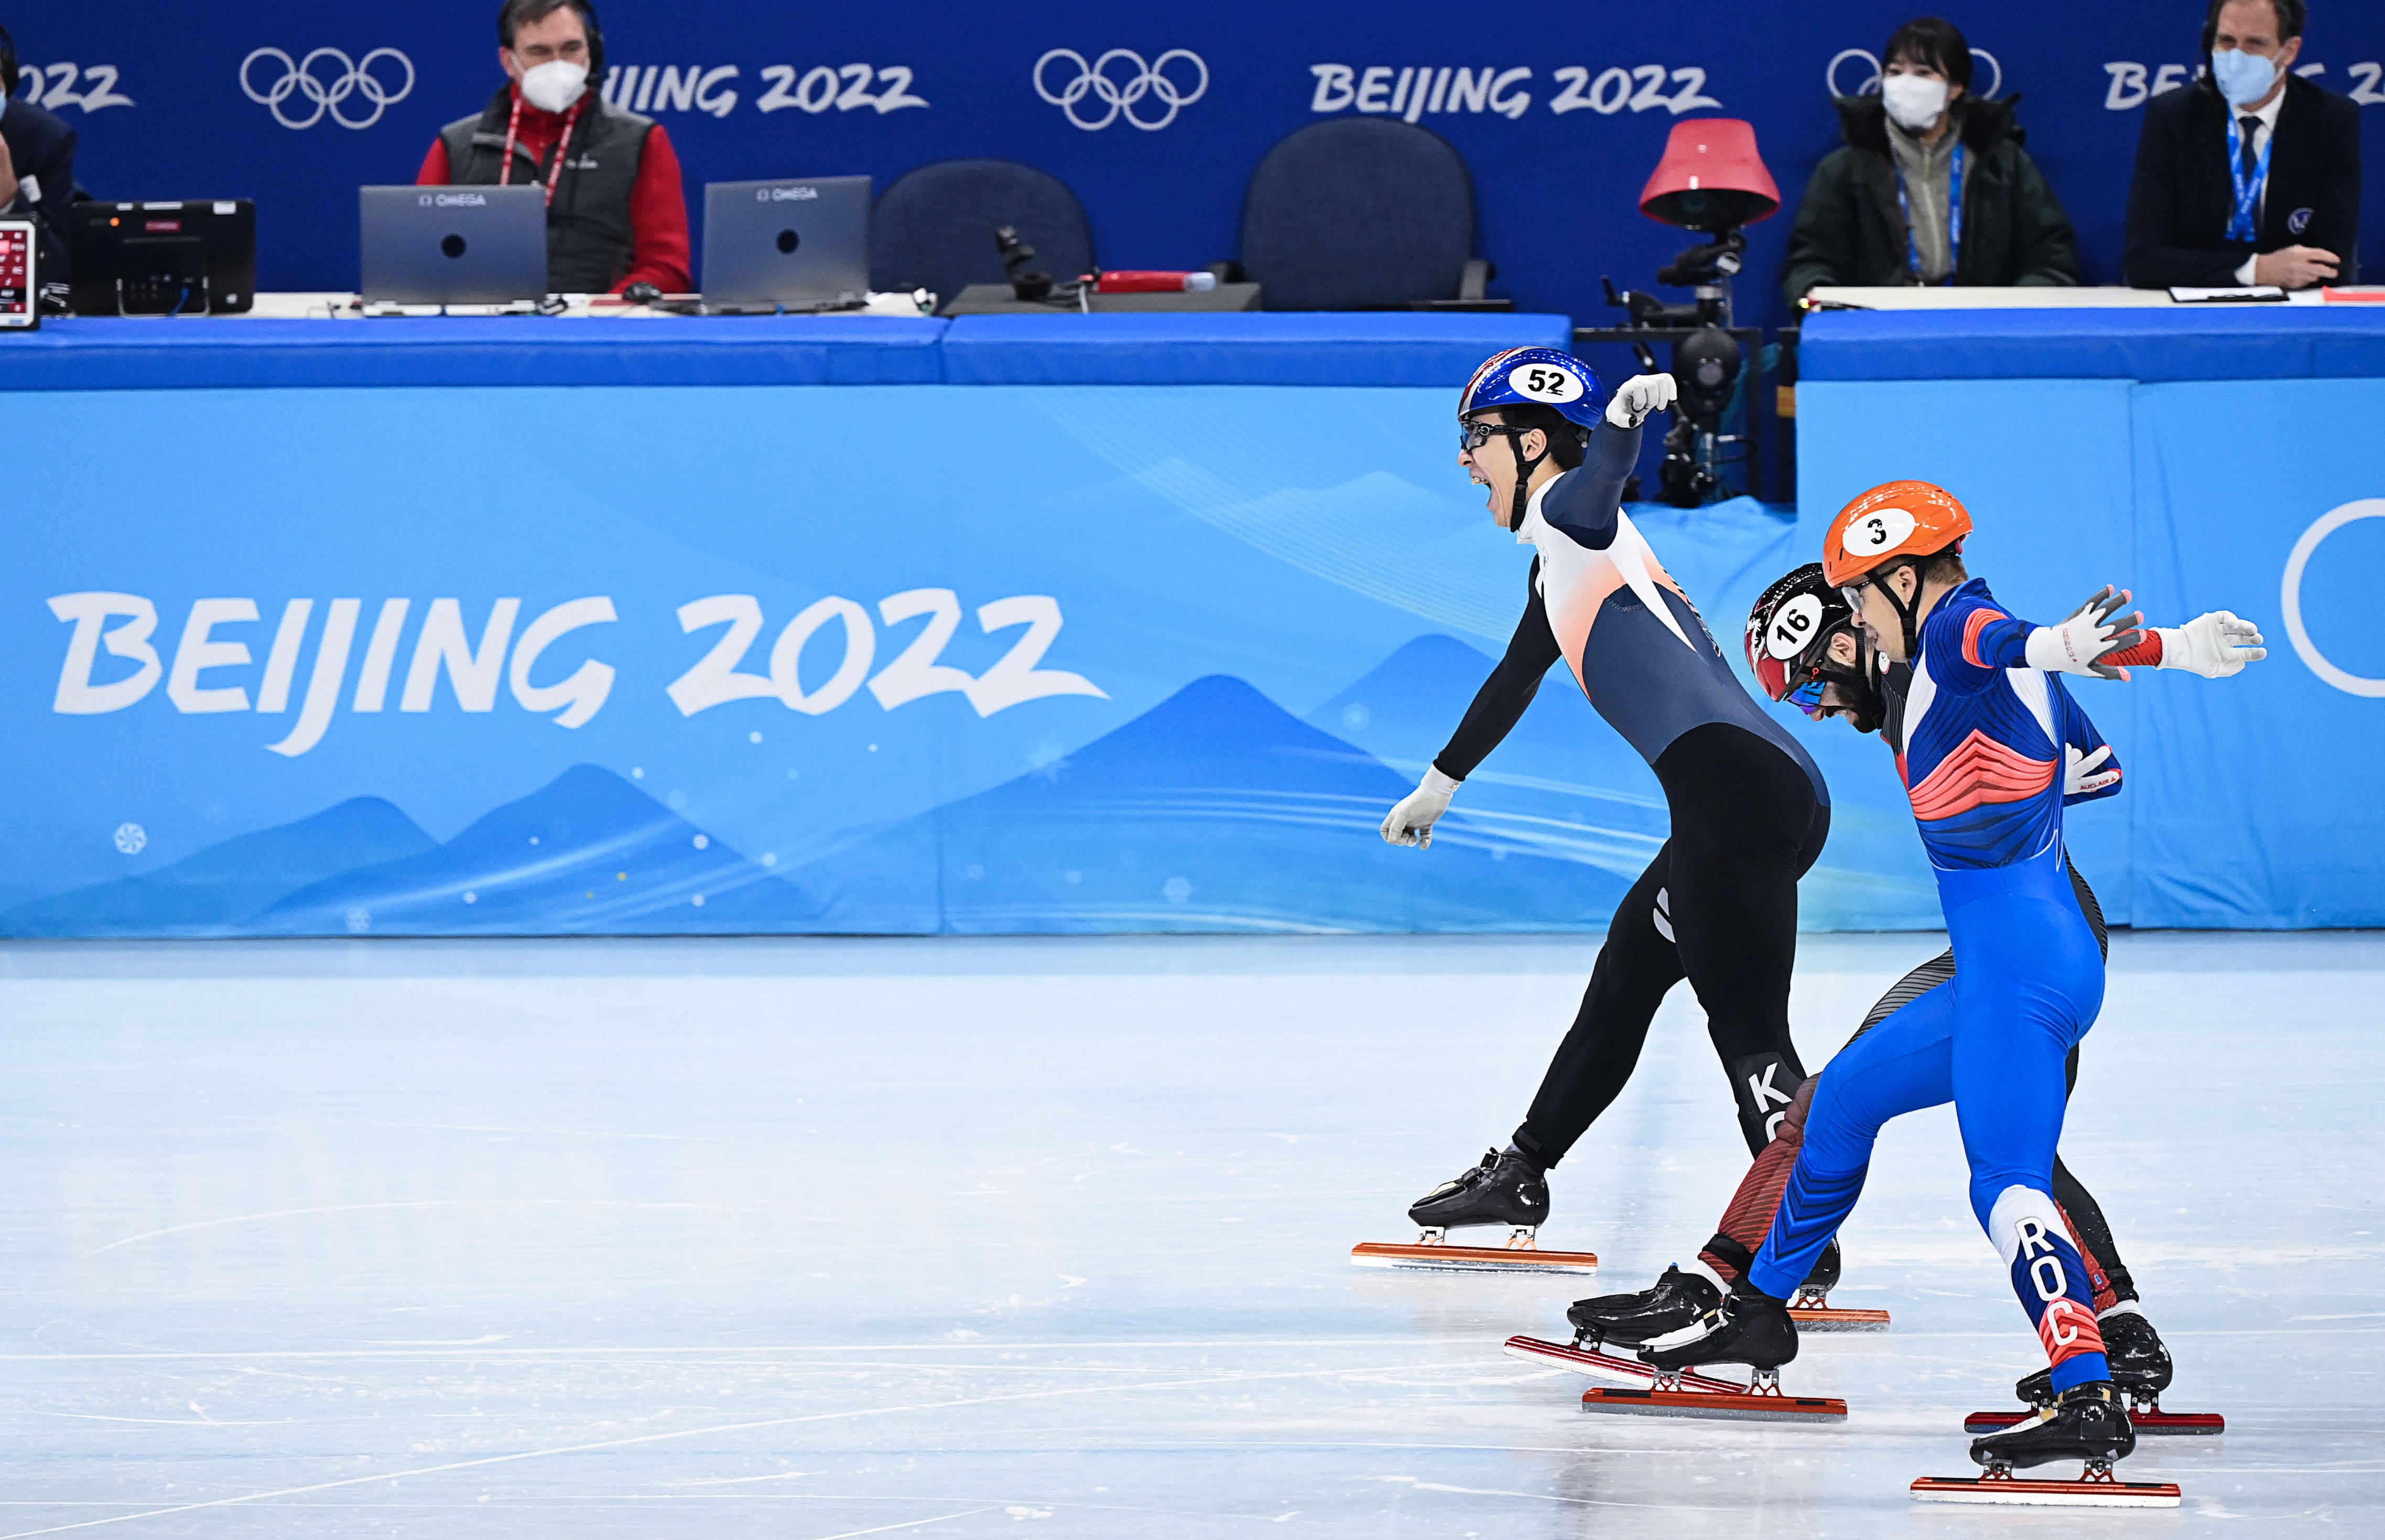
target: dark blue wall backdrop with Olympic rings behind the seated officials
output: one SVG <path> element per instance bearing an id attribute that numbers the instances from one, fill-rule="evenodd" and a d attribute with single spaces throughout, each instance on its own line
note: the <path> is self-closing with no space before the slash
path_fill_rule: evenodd
<path id="1" fill-rule="evenodd" d="M 353 288 L 358 184 L 413 181 L 436 129 L 501 83 L 496 0 L 324 10 L 50 5 L 10 17 L 26 95 L 83 136 L 100 198 L 258 200 L 262 288 Z M 902 172 L 954 155 L 1068 181 L 1109 267 L 1235 255 L 1259 155 L 1333 114 L 1395 114 L 1474 167 L 1498 293 L 1591 322 L 1598 274 L 1648 286 L 1686 241 L 1638 215 L 1669 126 L 1743 117 L 1796 203 L 1839 129 L 1829 93 L 1877 88 L 1918 5 L 1712 0 L 1617 12 L 1514 0 L 1495 26 L 1429 0 L 1269 12 L 1128 0 L 1090 17 L 987 5 L 851 10 L 606 0 L 606 91 L 656 117 L 704 181 Z M 1975 88 L 2022 98 L 2030 155 L 2080 229 L 2089 281 L 2118 281 L 2144 103 L 2201 69 L 2201 5 L 2013 0 L 1949 12 Z M 2321 0 L 2302 64 L 2375 122 L 2385 7 Z M 2364 267 L 2385 274 L 2385 179 L 2368 176 Z M 1782 319 L 1789 212 L 1753 229 L 1743 319 Z M 701 234 L 701 231 L 699 231 Z M 1686 296 L 1674 296 L 1686 298 Z"/>

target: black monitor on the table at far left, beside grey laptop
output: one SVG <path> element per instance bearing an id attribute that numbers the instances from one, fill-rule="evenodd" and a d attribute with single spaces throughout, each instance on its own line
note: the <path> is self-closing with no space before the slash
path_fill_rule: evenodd
<path id="1" fill-rule="evenodd" d="M 76 315 L 243 315 L 258 298 L 258 205 L 248 198 L 76 203 Z"/>

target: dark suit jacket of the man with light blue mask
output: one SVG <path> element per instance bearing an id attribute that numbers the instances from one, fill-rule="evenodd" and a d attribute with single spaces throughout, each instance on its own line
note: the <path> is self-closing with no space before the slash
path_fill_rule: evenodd
<path id="1" fill-rule="evenodd" d="M 2361 110 L 2325 86 L 2287 76 L 2278 138 L 2268 153 L 2261 238 L 2230 241 L 2235 179 L 2228 174 L 2232 110 L 2211 81 L 2166 91 L 2144 107 L 2137 179 L 2127 188 L 2127 281 L 2235 284 L 2254 253 L 2316 246 L 2335 253 L 2337 284 L 2359 281 Z"/>

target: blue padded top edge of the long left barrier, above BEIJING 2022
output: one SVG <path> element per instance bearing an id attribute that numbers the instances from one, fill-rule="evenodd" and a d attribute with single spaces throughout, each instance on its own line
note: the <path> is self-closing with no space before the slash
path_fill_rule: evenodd
<path id="1" fill-rule="evenodd" d="M 0 336 L 0 391 L 291 386 L 1445 386 L 1562 315 L 83 319 Z"/>

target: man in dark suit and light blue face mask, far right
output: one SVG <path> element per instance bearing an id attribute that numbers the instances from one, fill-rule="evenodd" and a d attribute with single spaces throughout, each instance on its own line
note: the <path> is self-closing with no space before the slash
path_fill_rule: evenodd
<path id="1" fill-rule="evenodd" d="M 2211 0 L 2204 76 L 2144 107 L 2137 288 L 2359 281 L 2361 110 L 2294 74 L 2306 21 L 2306 0 Z"/>

